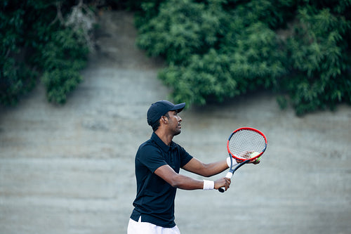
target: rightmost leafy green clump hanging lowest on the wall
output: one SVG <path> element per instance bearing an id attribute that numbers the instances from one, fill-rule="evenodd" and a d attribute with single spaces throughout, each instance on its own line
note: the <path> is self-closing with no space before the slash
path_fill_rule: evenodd
<path id="1" fill-rule="evenodd" d="M 287 43 L 293 74 L 284 80 L 297 114 L 351 103 L 350 55 L 344 41 L 351 22 L 328 8 L 300 8 L 298 19 Z"/>

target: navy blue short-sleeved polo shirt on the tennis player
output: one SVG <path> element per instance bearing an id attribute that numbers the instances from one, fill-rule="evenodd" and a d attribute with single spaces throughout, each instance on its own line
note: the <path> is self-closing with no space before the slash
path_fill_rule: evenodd
<path id="1" fill-rule="evenodd" d="M 177 143 L 171 142 L 166 145 L 157 134 L 152 133 L 151 138 L 141 144 L 135 156 L 135 177 L 137 195 L 133 202 L 131 219 L 153 223 L 164 228 L 173 228 L 174 222 L 174 199 L 176 188 L 154 171 L 168 164 L 179 173 L 180 168 L 192 159 Z"/>

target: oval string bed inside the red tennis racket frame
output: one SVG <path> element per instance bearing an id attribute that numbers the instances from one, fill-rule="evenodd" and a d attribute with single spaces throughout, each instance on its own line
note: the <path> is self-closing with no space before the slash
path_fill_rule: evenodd
<path id="1" fill-rule="evenodd" d="M 258 132 L 248 129 L 237 131 L 228 141 L 232 155 L 242 160 L 251 158 L 252 152 L 263 152 L 265 147 L 265 138 Z"/>

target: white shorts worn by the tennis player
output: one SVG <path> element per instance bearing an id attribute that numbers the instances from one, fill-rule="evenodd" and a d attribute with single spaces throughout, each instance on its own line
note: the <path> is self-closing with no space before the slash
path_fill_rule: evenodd
<path id="1" fill-rule="evenodd" d="M 164 228 L 152 223 L 142 222 L 140 218 L 138 222 L 129 219 L 127 234 L 180 234 L 177 226 Z"/>

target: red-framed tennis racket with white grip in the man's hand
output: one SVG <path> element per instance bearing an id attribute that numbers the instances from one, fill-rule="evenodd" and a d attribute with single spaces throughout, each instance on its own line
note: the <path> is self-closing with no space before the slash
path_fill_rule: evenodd
<path id="1" fill-rule="evenodd" d="M 233 131 L 227 141 L 230 170 L 225 177 L 232 178 L 234 172 L 244 166 L 244 164 L 258 160 L 258 158 L 263 155 L 266 148 L 267 138 L 261 131 L 249 127 Z M 232 168 L 233 160 L 240 162 L 234 168 Z M 224 193 L 225 187 L 219 188 L 218 191 Z"/>

